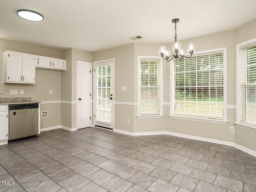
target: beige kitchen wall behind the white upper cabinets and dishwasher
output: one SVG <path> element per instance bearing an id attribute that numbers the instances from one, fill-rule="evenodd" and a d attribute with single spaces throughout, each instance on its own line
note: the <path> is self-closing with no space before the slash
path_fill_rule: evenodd
<path id="1" fill-rule="evenodd" d="M 6 50 L 17 51 L 52 58 L 60 58 L 60 51 L 33 46 L 29 44 L 0 39 L 1 71 L 0 71 L 0 97 L 32 97 L 34 101 L 60 101 L 61 98 L 61 72 L 36 68 L 36 84 L 3 83 L 3 52 Z M 10 95 L 10 89 L 17 89 L 17 95 Z M 24 89 L 24 94 L 19 90 Z M 52 94 L 49 90 L 52 89 Z M 49 118 L 41 119 L 41 128 L 60 125 L 60 104 L 41 104 L 42 110 L 49 111 Z"/>

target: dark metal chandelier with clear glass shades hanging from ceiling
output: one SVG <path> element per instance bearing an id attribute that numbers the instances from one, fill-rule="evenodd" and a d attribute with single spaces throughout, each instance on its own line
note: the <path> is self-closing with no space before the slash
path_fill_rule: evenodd
<path id="1" fill-rule="evenodd" d="M 171 55 L 171 51 L 170 50 L 166 50 L 166 47 L 162 46 L 159 47 L 159 54 L 160 56 L 162 56 L 163 59 L 166 59 L 168 62 L 170 60 L 172 60 L 173 58 L 177 59 L 179 58 L 179 60 L 183 60 L 183 58 L 190 58 L 192 56 L 192 54 L 195 51 L 195 45 L 194 44 L 188 44 L 187 45 L 187 49 L 188 52 L 190 54 L 190 56 L 185 56 L 185 50 L 184 49 L 180 49 L 181 46 L 181 42 L 176 41 L 177 38 L 177 34 L 176 34 L 176 23 L 178 23 L 180 20 L 179 19 L 173 19 L 172 22 L 175 23 L 175 34 L 174 34 L 174 38 L 175 38 L 175 42 L 172 43 L 172 50 L 175 52 L 175 54 Z"/>

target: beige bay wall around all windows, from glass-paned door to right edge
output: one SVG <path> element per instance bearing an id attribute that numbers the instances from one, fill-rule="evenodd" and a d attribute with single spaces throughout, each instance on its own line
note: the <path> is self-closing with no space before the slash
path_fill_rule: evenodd
<path id="1" fill-rule="evenodd" d="M 115 105 L 115 129 L 128 132 L 157 132 L 169 131 L 190 136 L 209 138 L 226 142 L 235 142 L 246 148 L 256 151 L 256 143 L 252 138 L 256 137 L 256 132 L 237 127 L 235 122 L 236 110 L 236 44 L 255 38 L 256 20 L 245 24 L 236 30 L 220 32 L 198 38 L 182 41 L 182 47 L 188 43 L 196 44 L 196 51 L 211 50 L 216 48 L 227 48 L 227 123 L 201 122 L 192 120 L 181 120 L 169 118 L 170 115 L 170 64 L 163 62 L 163 118 L 139 119 L 136 105 Z M 93 59 L 104 60 L 108 58 L 116 59 L 115 66 L 115 101 L 137 103 L 138 98 L 138 56 L 158 56 L 158 47 L 164 44 L 144 44 L 134 43 L 117 48 L 111 48 L 99 52 L 94 52 Z M 168 48 L 172 44 L 166 44 Z M 130 48 L 130 49 L 128 49 Z M 126 54 L 125 54 L 126 53 Z M 133 57 L 134 60 L 130 60 Z M 127 68 L 129 62 L 129 68 Z M 124 72 L 125 71 L 125 72 Z M 122 74 L 120 76 L 119 74 Z M 127 86 L 127 92 L 120 91 L 122 85 Z M 133 111 L 133 112 L 132 112 Z M 130 116 L 132 115 L 132 118 Z M 130 118 L 130 125 L 127 125 L 126 118 Z M 230 126 L 235 127 L 235 134 L 229 132 Z M 249 138 L 246 139 L 246 138 Z M 251 138 L 251 139 L 250 139 Z"/>

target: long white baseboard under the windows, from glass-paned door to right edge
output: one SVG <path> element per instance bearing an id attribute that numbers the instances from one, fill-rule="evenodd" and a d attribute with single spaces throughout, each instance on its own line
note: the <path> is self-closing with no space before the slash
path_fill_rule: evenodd
<path id="1" fill-rule="evenodd" d="M 210 142 L 210 143 L 216 143 L 216 144 L 221 144 L 221 145 L 227 145 L 227 146 L 232 146 L 235 147 L 243 152 L 246 152 L 248 154 L 251 154 L 252 156 L 256 157 L 256 151 L 250 150 L 246 147 L 240 146 L 236 143 L 233 142 L 228 142 L 228 141 L 222 141 L 222 140 L 216 140 L 216 139 L 210 139 L 210 138 L 204 138 L 204 137 L 198 137 L 198 136 L 192 136 L 192 135 L 186 135 L 186 134 L 180 134 L 180 133 L 174 133 L 174 132 L 169 132 L 169 131 L 156 131 L 156 132 L 128 132 L 124 130 L 118 130 L 114 129 L 114 132 L 126 134 L 126 135 L 131 135 L 131 136 L 142 136 L 142 135 L 171 135 L 171 136 L 176 136 L 176 137 L 183 137 L 183 138 L 188 138 L 188 139 L 194 139 L 194 140 L 199 140 L 199 141 L 204 141 L 204 142 Z"/>

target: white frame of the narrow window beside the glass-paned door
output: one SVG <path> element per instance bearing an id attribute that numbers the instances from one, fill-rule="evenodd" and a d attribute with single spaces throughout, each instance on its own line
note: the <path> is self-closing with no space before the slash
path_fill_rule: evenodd
<path id="1" fill-rule="evenodd" d="M 141 83 L 141 73 L 140 73 L 140 61 L 141 60 L 159 60 L 160 62 L 160 114 L 140 114 L 140 83 Z M 138 56 L 138 111 L 137 118 L 162 118 L 163 115 L 163 59 L 161 56 Z"/>

